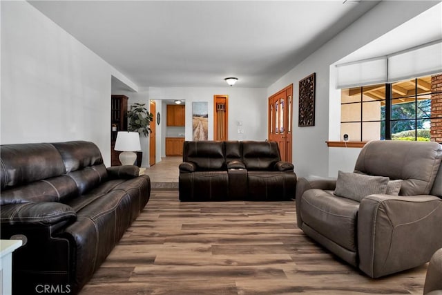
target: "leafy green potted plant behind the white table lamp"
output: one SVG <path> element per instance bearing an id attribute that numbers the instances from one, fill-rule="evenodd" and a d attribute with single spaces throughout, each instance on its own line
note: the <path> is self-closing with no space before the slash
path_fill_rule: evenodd
<path id="1" fill-rule="evenodd" d="M 127 112 L 128 117 L 128 131 L 135 131 L 148 137 L 151 133 L 151 127 L 149 125 L 153 121 L 153 114 L 149 113 L 146 108 L 146 104 L 132 104 L 131 110 Z M 142 152 L 137 152 L 137 166 L 141 166 Z"/>

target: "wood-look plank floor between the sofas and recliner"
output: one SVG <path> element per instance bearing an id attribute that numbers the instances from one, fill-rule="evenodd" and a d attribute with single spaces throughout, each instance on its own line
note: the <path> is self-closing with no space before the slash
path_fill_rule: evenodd
<path id="1" fill-rule="evenodd" d="M 296 227 L 294 202 L 151 200 L 88 294 L 422 294 L 427 265 L 372 279 Z"/>

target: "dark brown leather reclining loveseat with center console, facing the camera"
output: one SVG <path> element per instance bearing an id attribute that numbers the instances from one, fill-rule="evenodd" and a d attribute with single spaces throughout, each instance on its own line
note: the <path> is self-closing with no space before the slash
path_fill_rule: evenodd
<path id="1" fill-rule="evenodd" d="M 180 200 L 290 200 L 294 166 L 276 142 L 186 141 L 180 164 Z"/>

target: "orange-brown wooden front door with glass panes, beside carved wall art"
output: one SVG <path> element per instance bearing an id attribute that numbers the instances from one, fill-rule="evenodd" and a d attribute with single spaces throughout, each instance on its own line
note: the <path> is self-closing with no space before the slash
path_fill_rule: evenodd
<path id="1" fill-rule="evenodd" d="M 291 162 L 293 84 L 269 97 L 269 140 L 278 142 L 281 160 Z"/>

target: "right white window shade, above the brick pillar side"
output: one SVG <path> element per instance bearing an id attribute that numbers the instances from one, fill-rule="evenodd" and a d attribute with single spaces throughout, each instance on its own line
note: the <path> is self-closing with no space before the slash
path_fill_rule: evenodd
<path id="1" fill-rule="evenodd" d="M 388 57 L 388 83 L 442 73 L 442 41 Z"/>

